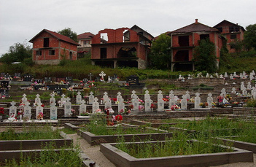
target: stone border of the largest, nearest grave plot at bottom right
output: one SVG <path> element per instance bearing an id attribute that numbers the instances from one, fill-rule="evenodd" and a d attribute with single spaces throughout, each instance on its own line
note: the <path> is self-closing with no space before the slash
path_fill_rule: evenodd
<path id="1" fill-rule="evenodd" d="M 134 144 L 139 143 L 142 142 L 134 142 Z M 233 148 L 234 152 L 217 152 L 198 155 L 177 155 L 160 158 L 134 158 L 131 155 L 128 155 L 126 152 L 117 149 L 115 145 L 116 143 L 101 144 L 100 150 L 106 156 L 106 158 L 108 158 L 112 163 L 115 164 L 115 166 L 118 167 L 218 166 L 227 163 L 253 162 L 252 152 L 238 148 Z"/>

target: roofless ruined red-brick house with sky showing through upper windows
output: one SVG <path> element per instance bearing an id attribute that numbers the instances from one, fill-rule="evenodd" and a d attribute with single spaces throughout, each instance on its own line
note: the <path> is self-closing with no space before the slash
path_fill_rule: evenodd
<path id="1" fill-rule="evenodd" d="M 104 29 L 93 36 L 93 65 L 145 69 L 151 39 L 146 31 L 142 31 L 138 26 L 136 28 L 138 32 L 131 28 Z"/>

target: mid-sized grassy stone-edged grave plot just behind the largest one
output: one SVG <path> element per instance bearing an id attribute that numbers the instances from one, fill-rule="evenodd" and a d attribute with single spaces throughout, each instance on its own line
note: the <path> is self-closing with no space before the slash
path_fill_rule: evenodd
<path id="1" fill-rule="evenodd" d="M 172 133 L 147 127 L 125 128 L 123 124 L 109 128 L 106 122 L 91 121 L 87 128 L 81 128 L 77 134 L 88 141 L 90 145 L 111 143 L 124 138 L 125 141 L 144 141 L 144 140 L 165 140 L 170 138 Z"/>

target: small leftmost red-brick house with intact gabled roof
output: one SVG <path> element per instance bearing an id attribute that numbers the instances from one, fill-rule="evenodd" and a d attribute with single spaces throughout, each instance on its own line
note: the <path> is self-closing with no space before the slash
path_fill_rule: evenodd
<path id="1" fill-rule="evenodd" d="M 29 42 L 33 43 L 32 60 L 38 64 L 58 64 L 63 58 L 77 60 L 79 45 L 68 36 L 43 29 Z"/>

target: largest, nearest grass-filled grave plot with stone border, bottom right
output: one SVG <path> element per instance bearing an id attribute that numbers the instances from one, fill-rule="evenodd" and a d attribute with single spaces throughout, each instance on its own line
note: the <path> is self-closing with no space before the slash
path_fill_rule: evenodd
<path id="1" fill-rule="evenodd" d="M 253 162 L 250 151 L 197 140 L 101 144 L 100 150 L 120 167 L 217 166 Z"/>

